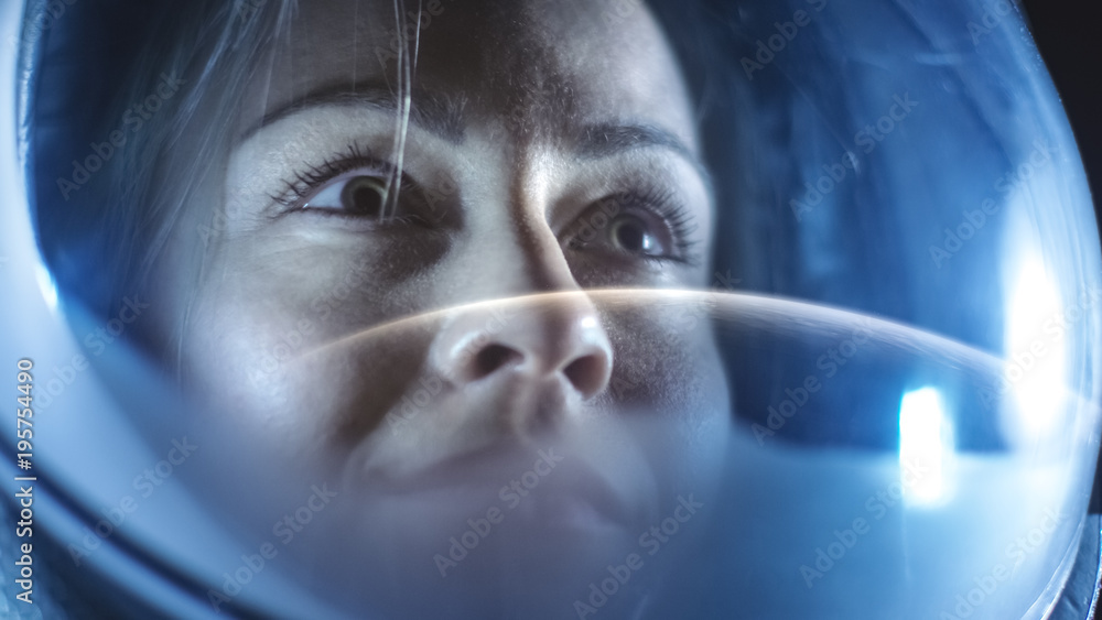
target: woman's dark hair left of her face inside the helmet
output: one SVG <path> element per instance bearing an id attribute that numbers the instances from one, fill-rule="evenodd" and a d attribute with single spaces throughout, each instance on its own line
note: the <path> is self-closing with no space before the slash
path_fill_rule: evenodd
<path id="1" fill-rule="evenodd" d="M 182 205 L 222 174 L 239 89 L 294 6 L 116 1 L 73 7 L 78 14 L 43 33 L 30 135 L 34 205 L 43 254 L 71 304 L 109 315 L 150 285 L 153 261 L 181 225 L 199 237 L 217 227 L 213 214 L 195 221 Z M 88 28 L 85 18 L 106 23 Z M 198 141 L 181 140 L 199 119 L 207 131 Z"/>

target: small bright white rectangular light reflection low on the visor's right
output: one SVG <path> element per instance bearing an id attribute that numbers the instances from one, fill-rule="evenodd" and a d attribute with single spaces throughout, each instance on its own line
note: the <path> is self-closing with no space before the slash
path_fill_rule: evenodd
<path id="1" fill-rule="evenodd" d="M 954 449 L 952 435 L 952 423 L 937 389 L 927 387 L 903 395 L 899 476 L 908 503 L 936 505 L 946 499 L 947 463 Z"/>

